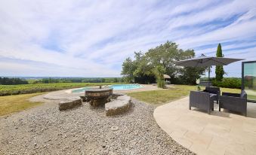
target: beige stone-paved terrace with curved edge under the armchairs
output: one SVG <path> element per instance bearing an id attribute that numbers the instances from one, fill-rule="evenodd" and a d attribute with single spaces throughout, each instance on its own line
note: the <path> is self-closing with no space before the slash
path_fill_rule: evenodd
<path id="1" fill-rule="evenodd" d="M 175 141 L 197 154 L 255 154 L 256 104 L 248 102 L 248 117 L 218 111 L 208 115 L 193 108 L 189 97 L 159 106 L 154 111 L 159 126 Z"/>

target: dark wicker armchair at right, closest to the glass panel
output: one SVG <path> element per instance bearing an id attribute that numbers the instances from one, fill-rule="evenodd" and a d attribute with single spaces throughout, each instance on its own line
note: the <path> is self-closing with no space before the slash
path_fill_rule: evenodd
<path id="1" fill-rule="evenodd" d="M 242 90 L 241 93 L 222 93 L 220 96 L 220 105 L 219 111 L 221 108 L 241 112 L 244 116 L 247 116 L 247 94 L 245 90 Z"/>

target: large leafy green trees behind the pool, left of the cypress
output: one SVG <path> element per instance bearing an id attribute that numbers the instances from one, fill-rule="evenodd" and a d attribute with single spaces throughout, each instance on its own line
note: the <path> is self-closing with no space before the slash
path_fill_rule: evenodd
<path id="1" fill-rule="evenodd" d="M 194 50 L 182 50 L 174 42 L 148 50 L 134 52 L 134 59 L 128 57 L 122 63 L 122 75 L 125 82 L 138 84 L 156 83 L 164 87 L 163 74 L 171 77 L 171 84 L 196 84 L 196 78 L 204 74 L 205 68 L 180 67 L 175 62 L 195 57 Z"/>

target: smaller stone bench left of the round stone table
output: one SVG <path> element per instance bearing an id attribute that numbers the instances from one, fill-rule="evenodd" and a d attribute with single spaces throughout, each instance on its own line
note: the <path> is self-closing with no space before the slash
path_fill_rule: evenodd
<path id="1" fill-rule="evenodd" d="M 66 110 L 66 109 L 75 108 L 79 105 L 82 105 L 81 99 L 69 98 L 69 99 L 66 99 L 64 101 L 60 101 L 59 110 L 63 111 L 63 110 Z"/>

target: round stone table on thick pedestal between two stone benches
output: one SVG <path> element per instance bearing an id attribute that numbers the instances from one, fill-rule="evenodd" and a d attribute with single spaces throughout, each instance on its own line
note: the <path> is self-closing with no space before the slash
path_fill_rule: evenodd
<path id="1" fill-rule="evenodd" d="M 85 91 L 85 97 L 90 101 L 90 105 L 98 107 L 104 105 L 113 95 L 113 88 L 91 88 Z"/>

